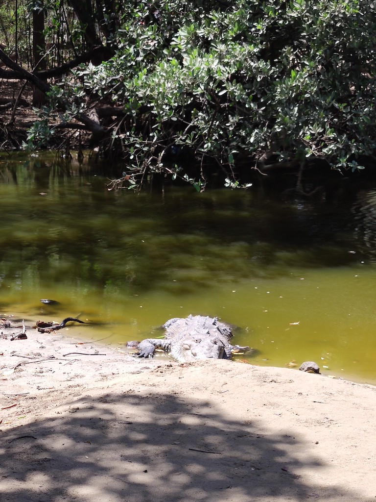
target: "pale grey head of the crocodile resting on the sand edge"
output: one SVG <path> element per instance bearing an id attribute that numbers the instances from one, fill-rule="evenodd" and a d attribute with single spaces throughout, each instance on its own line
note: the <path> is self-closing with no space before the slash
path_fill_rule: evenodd
<path id="1" fill-rule="evenodd" d="M 225 349 L 223 342 L 218 338 L 185 338 L 178 345 L 171 346 L 171 356 L 179 362 L 222 359 L 225 357 Z"/>

